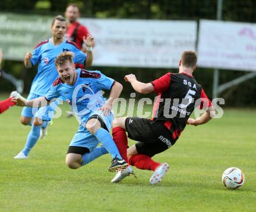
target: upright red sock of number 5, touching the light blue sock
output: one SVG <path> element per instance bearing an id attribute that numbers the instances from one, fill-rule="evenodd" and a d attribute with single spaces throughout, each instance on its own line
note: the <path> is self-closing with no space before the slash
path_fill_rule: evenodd
<path id="1" fill-rule="evenodd" d="M 125 130 L 121 127 L 114 127 L 112 129 L 112 136 L 113 136 L 113 140 L 116 143 L 116 147 L 118 147 L 120 155 L 126 162 L 129 162 L 127 158 L 128 140 L 127 140 Z"/>

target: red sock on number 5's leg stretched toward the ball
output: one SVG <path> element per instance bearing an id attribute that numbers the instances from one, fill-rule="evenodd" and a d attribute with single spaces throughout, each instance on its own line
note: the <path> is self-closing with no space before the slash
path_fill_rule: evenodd
<path id="1" fill-rule="evenodd" d="M 130 165 L 136 166 L 138 169 L 147 169 L 155 171 L 161 163 L 155 162 L 147 155 L 132 155 L 129 158 Z"/>

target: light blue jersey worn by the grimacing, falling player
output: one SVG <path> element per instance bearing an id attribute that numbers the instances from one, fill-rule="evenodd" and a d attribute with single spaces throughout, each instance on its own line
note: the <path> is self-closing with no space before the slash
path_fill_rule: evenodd
<path id="1" fill-rule="evenodd" d="M 102 90 L 111 90 L 115 81 L 101 74 L 100 71 L 86 71 L 78 68 L 76 72 L 77 79 L 74 85 L 62 83 L 61 78 L 58 78 L 45 98 L 51 101 L 53 98 L 62 97 L 72 105 L 79 119 L 86 123 L 91 113 L 97 111 L 106 102 L 102 96 Z"/>

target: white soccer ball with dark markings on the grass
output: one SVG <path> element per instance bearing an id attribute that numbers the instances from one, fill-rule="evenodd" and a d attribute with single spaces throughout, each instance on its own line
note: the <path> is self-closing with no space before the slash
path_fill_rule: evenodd
<path id="1" fill-rule="evenodd" d="M 244 184 L 243 171 L 236 167 L 226 169 L 222 174 L 222 183 L 227 189 L 237 189 Z"/>

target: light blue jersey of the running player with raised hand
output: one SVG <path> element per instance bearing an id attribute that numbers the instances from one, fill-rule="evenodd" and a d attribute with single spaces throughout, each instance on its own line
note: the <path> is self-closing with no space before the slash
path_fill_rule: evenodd
<path id="1" fill-rule="evenodd" d="M 33 56 L 30 59 L 33 65 L 38 63 L 38 72 L 35 76 L 30 93 L 38 96 L 45 96 L 52 83 L 58 77 L 55 67 L 55 58 L 62 52 L 73 52 L 74 63 L 84 64 L 86 54 L 76 46 L 75 43 L 64 40 L 60 45 L 55 46 L 51 39 L 47 39 L 35 46 Z"/>

